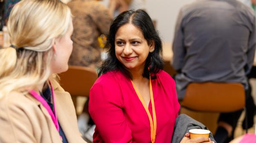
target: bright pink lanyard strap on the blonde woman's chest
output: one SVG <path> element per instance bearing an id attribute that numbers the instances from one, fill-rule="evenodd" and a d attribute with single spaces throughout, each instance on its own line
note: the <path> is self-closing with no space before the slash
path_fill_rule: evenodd
<path id="1" fill-rule="evenodd" d="M 34 96 L 35 99 L 37 99 L 39 102 L 41 102 L 41 104 L 47 109 L 49 115 L 52 118 L 52 121 L 56 127 L 56 129 L 59 132 L 59 125 L 58 125 L 58 119 L 57 119 L 57 114 L 56 114 L 56 109 L 55 109 L 55 101 L 54 101 L 54 91 L 52 88 L 52 84 L 49 82 L 50 87 L 51 87 L 51 91 L 52 91 L 52 102 L 53 102 L 53 109 L 54 109 L 54 113 L 52 112 L 51 107 L 49 107 L 49 105 L 47 104 L 47 102 L 44 100 L 44 98 L 41 95 L 38 95 L 37 92 L 35 92 L 35 90 L 30 90 L 29 93 Z"/>

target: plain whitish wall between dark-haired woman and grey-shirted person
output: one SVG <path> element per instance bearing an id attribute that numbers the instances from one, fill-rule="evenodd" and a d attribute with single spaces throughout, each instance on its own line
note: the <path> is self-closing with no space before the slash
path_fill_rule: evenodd
<path id="1" fill-rule="evenodd" d="M 165 42 L 172 42 L 177 14 L 180 8 L 194 0 L 145 0 L 145 7 L 152 18 L 157 20 L 157 30 Z"/>

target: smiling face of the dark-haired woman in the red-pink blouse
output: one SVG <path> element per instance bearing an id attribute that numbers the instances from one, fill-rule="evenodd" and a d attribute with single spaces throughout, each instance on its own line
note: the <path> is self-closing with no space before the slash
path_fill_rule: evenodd
<path id="1" fill-rule="evenodd" d="M 131 23 L 122 25 L 115 35 L 116 58 L 131 72 L 143 70 L 145 61 L 154 45 L 149 45 L 140 28 Z"/>

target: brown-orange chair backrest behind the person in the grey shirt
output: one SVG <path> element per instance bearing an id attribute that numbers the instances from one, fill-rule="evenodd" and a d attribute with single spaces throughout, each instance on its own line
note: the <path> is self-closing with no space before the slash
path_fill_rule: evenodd
<path id="1" fill-rule="evenodd" d="M 233 112 L 245 107 L 244 87 L 240 83 L 191 83 L 181 105 L 203 112 Z"/>

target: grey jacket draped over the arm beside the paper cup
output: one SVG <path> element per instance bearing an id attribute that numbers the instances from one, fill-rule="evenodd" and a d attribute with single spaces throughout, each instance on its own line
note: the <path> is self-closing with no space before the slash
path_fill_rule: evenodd
<path id="1" fill-rule="evenodd" d="M 180 143 L 184 135 L 189 132 L 190 129 L 207 129 L 207 127 L 202 123 L 195 121 L 188 115 L 180 114 L 175 121 L 172 143 Z M 212 132 L 210 132 L 209 138 L 216 143 Z"/>

